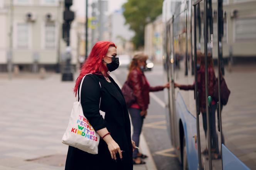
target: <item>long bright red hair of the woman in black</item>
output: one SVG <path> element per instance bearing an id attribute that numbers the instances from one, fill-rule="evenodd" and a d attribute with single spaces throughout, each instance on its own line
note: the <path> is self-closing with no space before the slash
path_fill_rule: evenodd
<path id="1" fill-rule="evenodd" d="M 99 41 L 94 44 L 91 53 L 89 54 L 86 61 L 83 63 L 80 75 L 76 79 L 76 85 L 74 88 L 75 94 L 77 93 L 79 83 L 81 82 L 84 75 L 89 73 L 99 74 L 101 72 L 104 72 L 104 76 L 108 76 L 108 68 L 103 64 L 102 60 L 106 53 L 108 53 L 108 48 L 110 46 L 116 48 L 116 45 L 110 41 Z"/>

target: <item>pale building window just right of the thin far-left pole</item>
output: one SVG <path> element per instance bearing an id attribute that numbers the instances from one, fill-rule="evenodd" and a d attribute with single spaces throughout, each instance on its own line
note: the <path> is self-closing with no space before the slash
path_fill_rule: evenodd
<path id="1" fill-rule="evenodd" d="M 29 47 L 29 25 L 27 23 L 17 24 L 17 48 Z"/>

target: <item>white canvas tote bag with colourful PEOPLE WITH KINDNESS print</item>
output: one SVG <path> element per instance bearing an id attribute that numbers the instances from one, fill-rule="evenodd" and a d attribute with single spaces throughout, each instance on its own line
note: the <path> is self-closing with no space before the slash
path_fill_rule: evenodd
<path id="1" fill-rule="evenodd" d="M 88 74 L 87 74 L 88 75 Z M 86 75 L 85 75 L 86 76 Z M 91 154 L 98 154 L 99 145 L 99 134 L 93 129 L 86 117 L 84 117 L 83 108 L 81 105 L 81 87 L 84 78 L 81 80 L 79 88 L 79 98 L 76 95 L 76 102 L 73 104 L 71 115 L 69 118 L 69 124 L 67 126 L 66 132 L 62 137 L 62 143 L 78 148 L 85 152 Z M 99 82 L 101 87 L 101 83 Z M 78 92 L 78 90 L 77 90 Z M 99 100 L 99 105 L 101 103 L 101 98 Z M 105 117 L 105 112 L 99 110 L 102 117 Z"/>

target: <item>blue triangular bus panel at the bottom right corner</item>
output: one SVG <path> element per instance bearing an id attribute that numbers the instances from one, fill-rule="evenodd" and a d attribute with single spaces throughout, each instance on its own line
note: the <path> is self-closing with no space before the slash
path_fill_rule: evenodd
<path id="1" fill-rule="evenodd" d="M 222 144 L 223 170 L 249 170 L 228 148 Z"/>

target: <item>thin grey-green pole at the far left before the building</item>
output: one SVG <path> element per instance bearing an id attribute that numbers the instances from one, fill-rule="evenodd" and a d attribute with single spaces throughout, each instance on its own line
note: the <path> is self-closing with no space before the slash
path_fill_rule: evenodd
<path id="1" fill-rule="evenodd" d="M 10 33 L 9 33 L 9 52 L 7 54 L 7 71 L 8 77 L 12 79 L 12 53 L 13 53 L 13 46 L 12 46 L 12 39 L 13 39 L 13 0 L 10 1 Z"/>

